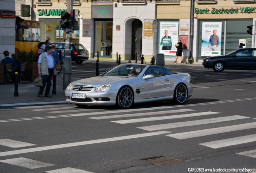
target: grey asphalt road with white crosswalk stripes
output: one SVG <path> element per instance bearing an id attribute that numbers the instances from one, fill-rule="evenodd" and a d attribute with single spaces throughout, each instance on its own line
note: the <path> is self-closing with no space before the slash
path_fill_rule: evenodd
<path id="1" fill-rule="evenodd" d="M 72 80 L 94 76 L 94 64 L 72 66 Z M 184 105 L 1 109 L 0 172 L 256 172 L 256 73 L 166 67 L 193 77 L 193 95 Z"/>

